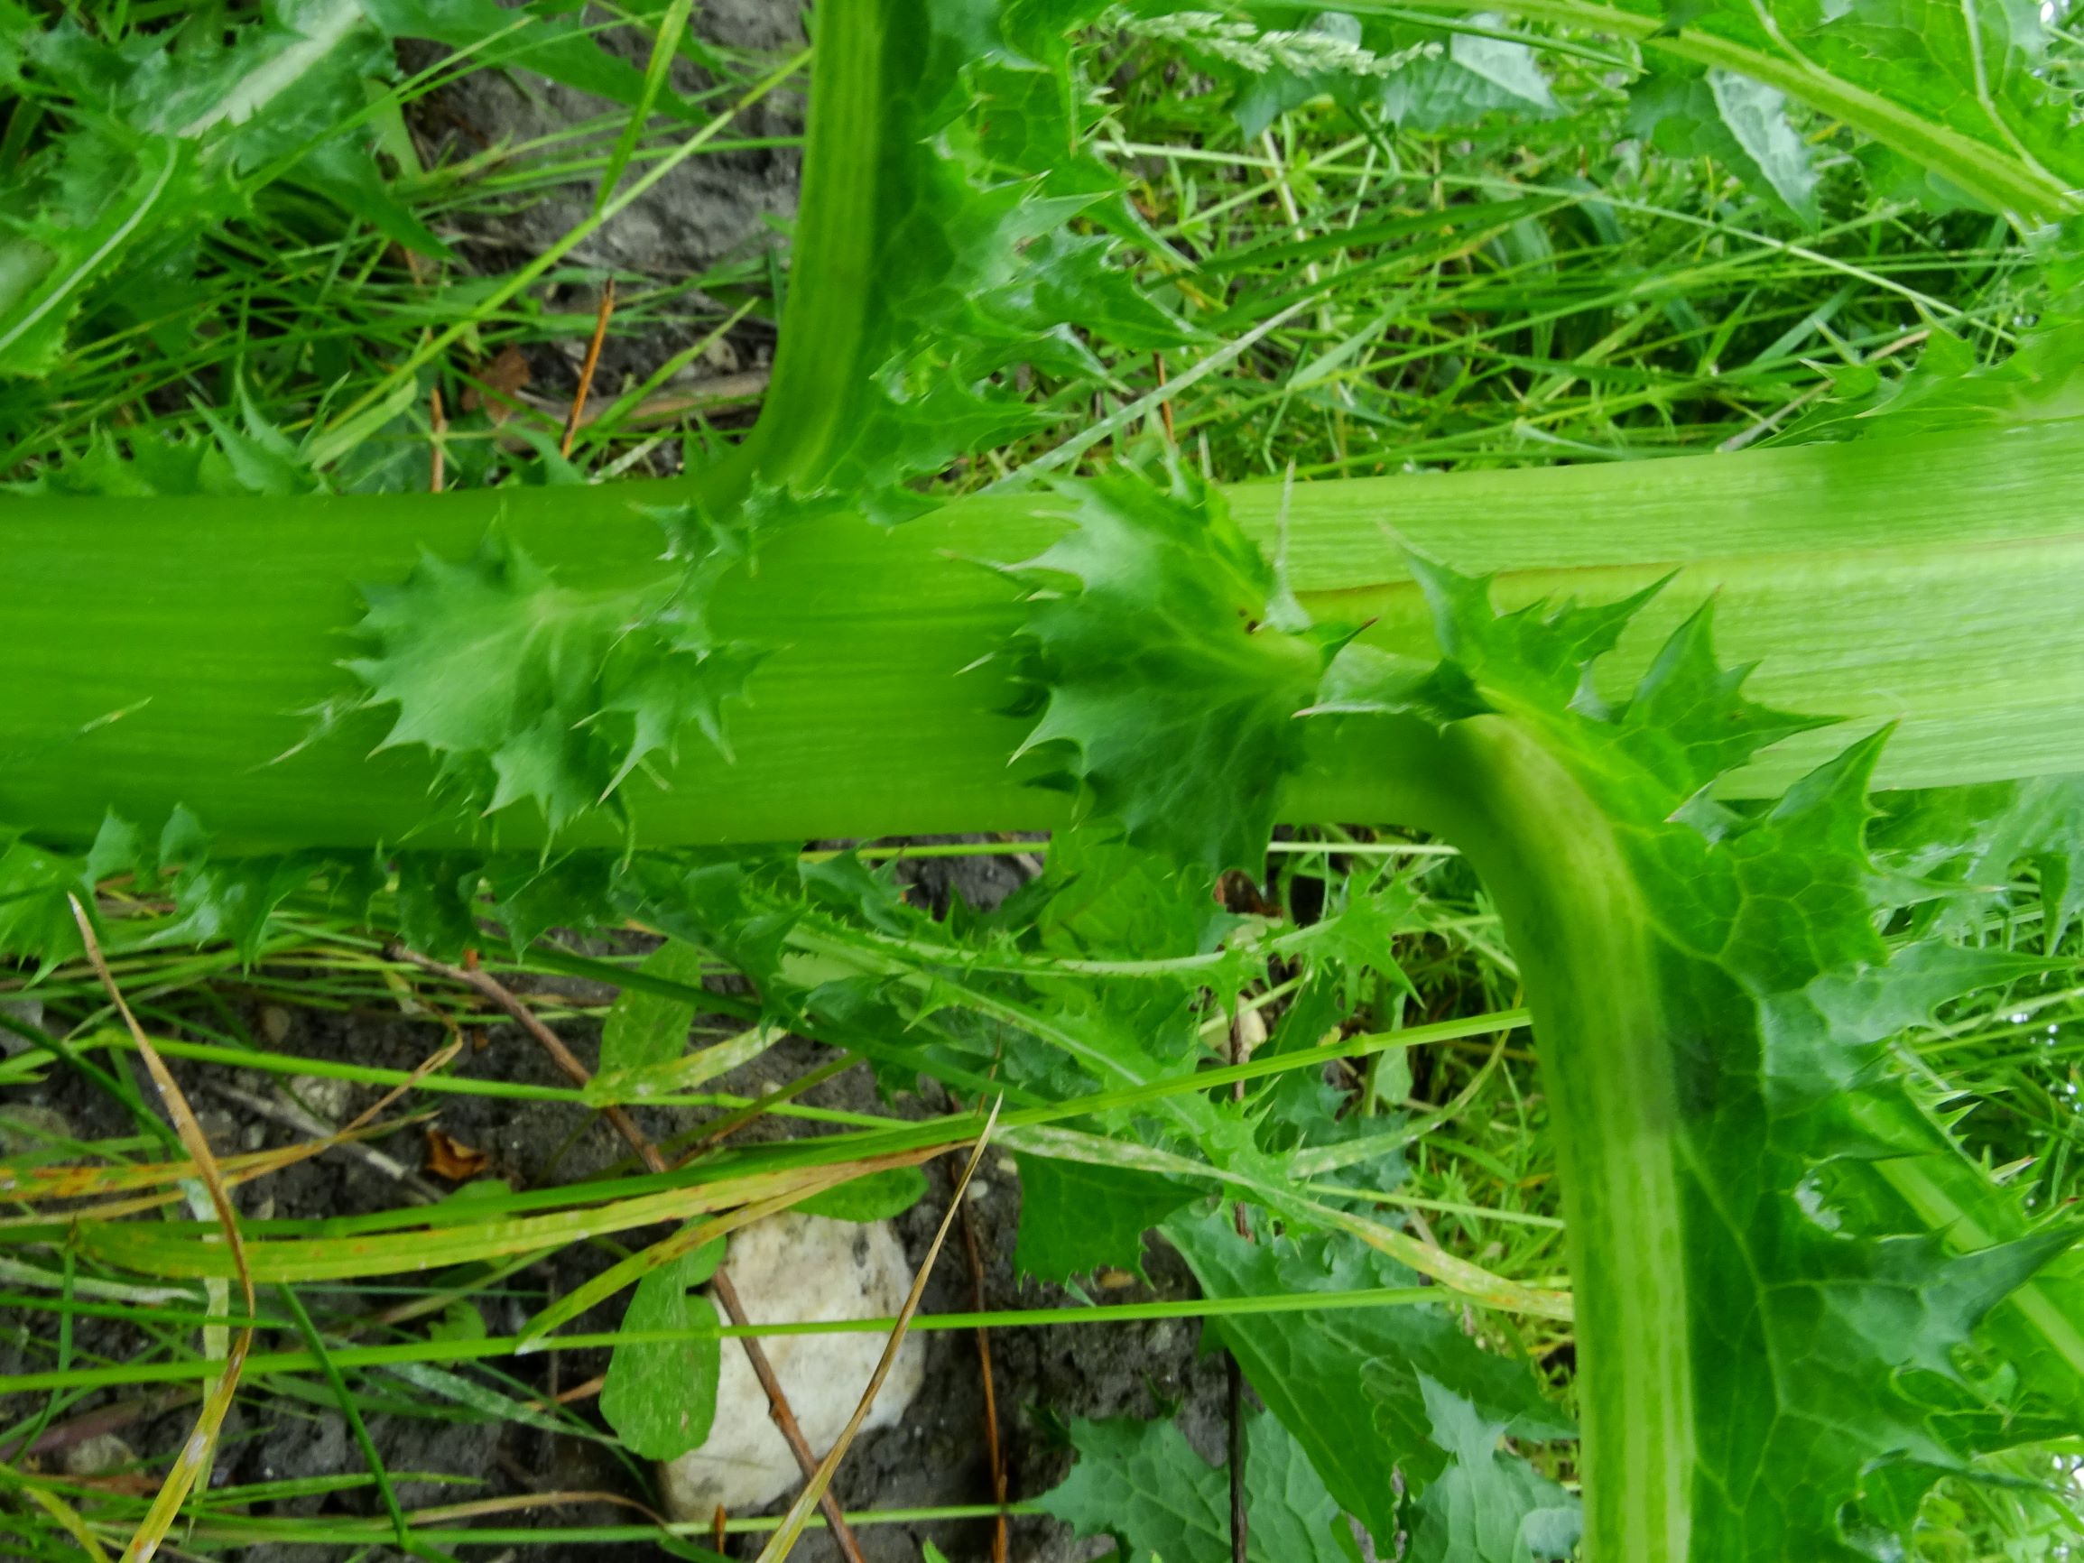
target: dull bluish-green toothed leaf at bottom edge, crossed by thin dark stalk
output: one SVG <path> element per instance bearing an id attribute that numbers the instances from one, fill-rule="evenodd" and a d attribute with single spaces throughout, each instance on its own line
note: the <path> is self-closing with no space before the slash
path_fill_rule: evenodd
<path id="1" fill-rule="evenodd" d="M 1230 1480 L 1173 1421 L 1073 1421 L 1077 1463 L 1038 1498 L 1077 1536 L 1113 1536 L 1132 1557 L 1230 1563 Z M 1273 1417 L 1244 1423 L 1250 1550 L 1265 1563 L 1355 1563 L 1359 1548 L 1323 1482 Z"/>

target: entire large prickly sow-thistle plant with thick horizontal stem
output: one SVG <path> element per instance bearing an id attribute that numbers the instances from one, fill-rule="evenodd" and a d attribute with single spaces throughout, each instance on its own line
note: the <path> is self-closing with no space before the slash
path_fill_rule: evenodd
<path id="1" fill-rule="evenodd" d="M 1646 127 L 1788 210 L 1811 198 L 1773 119 L 1792 98 L 1851 127 L 1876 181 L 1988 208 L 2061 267 L 2084 135 L 2030 19 L 1503 10 L 1621 40 Z M 1459 40 L 1505 27 L 1459 33 L 1436 0 L 1355 15 L 832 0 L 773 390 L 715 469 L 8 502 L 0 936 L 75 952 L 67 894 L 121 873 L 165 875 L 179 913 L 110 946 L 258 948 L 323 884 L 394 886 L 408 938 L 454 948 L 490 894 L 517 940 L 638 915 L 742 965 L 782 1019 L 842 1025 L 834 973 L 888 975 L 909 913 L 844 934 L 834 907 L 869 892 L 782 896 L 709 848 L 1069 829 L 1130 894 L 1155 861 L 1202 886 L 1250 867 L 1282 821 L 1436 832 L 1496 900 L 1534 1015 L 1567 1298 L 1486 1294 L 1300 1194 L 1227 1098 L 1132 1111 L 1192 1059 L 1130 1017 L 1052 1019 L 1050 977 L 994 1023 L 1055 1059 L 1032 1080 L 1127 1094 L 1092 1123 L 1161 1171 L 1196 1148 L 1257 1207 L 1259 1244 L 1169 1219 L 1213 1294 L 1394 1261 L 1573 1319 L 1582 1521 L 1498 1453 L 1569 1421 L 1486 1380 L 1503 1365 L 1446 1315 L 1328 1334 L 1342 1382 L 1223 1328 L 1311 1492 L 1384 1555 L 1403 1534 L 1557 1557 L 1582 1525 L 1596 1563 L 1899 1557 L 1940 1475 L 2084 1425 L 2074 1223 L 1992 1182 L 1890 1057 L 1934 1009 L 2044 971 L 2084 896 L 2076 327 L 1742 454 L 1227 492 L 1184 458 L 1038 463 L 938 496 L 923 479 L 1061 419 L 1048 388 L 1109 354 L 1217 348 L 1119 265 L 1177 256 L 1086 138 L 1075 40 L 1107 21 L 1292 102 L 1438 85 L 1473 58 Z M 2028 869 L 2044 946 L 1963 940 Z M 1148 954 L 1192 977 L 1217 959 L 1196 938 Z"/>

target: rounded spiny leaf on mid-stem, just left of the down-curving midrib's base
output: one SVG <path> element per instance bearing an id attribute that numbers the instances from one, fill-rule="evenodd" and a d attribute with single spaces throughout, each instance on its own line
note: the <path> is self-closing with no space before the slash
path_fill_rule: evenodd
<path id="1" fill-rule="evenodd" d="M 1255 865 L 1334 636 L 1273 625 L 1273 573 L 1213 496 L 1127 479 L 1063 494 L 1073 529 L 1015 571 L 1048 692 L 1025 748 L 1065 752 L 1130 844 Z"/>

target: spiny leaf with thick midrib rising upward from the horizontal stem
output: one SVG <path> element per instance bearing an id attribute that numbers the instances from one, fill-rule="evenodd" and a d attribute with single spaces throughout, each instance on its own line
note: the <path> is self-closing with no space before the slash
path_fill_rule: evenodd
<path id="1" fill-rule="evenodd" d="M 813 142 L 819 125 L 846 142 L 813 160 L 873 196 L 800 256 L 734 492 L 840 494 L 902 521 L 929 508 L 907 479 L 1055 421 L 1025 375 L 1084 383 L 1105 375 L 1100 344 L 1192 338 L 1119 265 L 1150 235 L 1086 146 L 1105 102 L 1071 38 L 1100 8 L 929 0 L 838 19 L 829 46 L 875 67 L 821 79 Z"/>

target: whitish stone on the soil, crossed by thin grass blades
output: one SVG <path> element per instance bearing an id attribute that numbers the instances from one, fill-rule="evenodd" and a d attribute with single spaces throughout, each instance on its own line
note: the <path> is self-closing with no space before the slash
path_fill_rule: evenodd
<path id="1" fill-rule="evenodd" d="M 754 1323 L 888 1317 L 904 1307 L 913 1282 L 890 1221 L 777 1215 L 734 1232 L 723 1263 Z M 723 1311 L 717 1313 L 721 1319 Z M 844 1334 L 769 1336 L 761 1342 L 790 1411 L 819 1457 L 854 1415 L 886 1340 L 884 1334 Z M 894 1425 L 919 1394 L 923 1375 L 923 1348 L 907 1338 L 861 1432 Z M 802 1471 L 767 1415 L 767 1394 L 752 1378 L 744 1346 L 725 1340 L 709 1442 L 661 1467 L 667 1511 L 675 1519 L 706 1521 L 719 1505 L 729 1511 L 763 1509 L 800 1482 Z"/>

